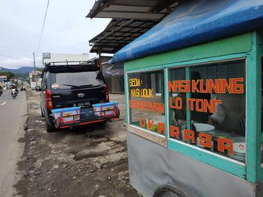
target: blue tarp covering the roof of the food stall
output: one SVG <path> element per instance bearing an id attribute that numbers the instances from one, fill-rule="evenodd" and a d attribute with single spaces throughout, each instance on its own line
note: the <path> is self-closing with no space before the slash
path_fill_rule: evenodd
<path id="1" fill-rule="evenodd" d="M 263 27 L 263 0 L 186 1 L 115 53 L 111 63 L 145 57 Z"/>

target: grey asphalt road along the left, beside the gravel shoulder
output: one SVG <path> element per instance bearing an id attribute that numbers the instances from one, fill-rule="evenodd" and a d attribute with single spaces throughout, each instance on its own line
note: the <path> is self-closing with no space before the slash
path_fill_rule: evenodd
<path id="1" fill-rule="evenodd" d="M 12 99 L 10 90 L 0 96 L 0 196 L 16 194 L 13 185 L 18 181 L 16 163 L 23 154 L 24 143 L 18 142 L 24 137 L 27 114 L 25 92 Z"/>

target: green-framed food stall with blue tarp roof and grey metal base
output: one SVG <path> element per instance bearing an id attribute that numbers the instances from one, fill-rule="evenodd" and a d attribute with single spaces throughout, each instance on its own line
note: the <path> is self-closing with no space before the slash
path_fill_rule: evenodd
<path id="1" fill-rule="evenodd" d="M 186 1 L 115 53 L 142 196 L 263 196 L 263 1 Z"/>

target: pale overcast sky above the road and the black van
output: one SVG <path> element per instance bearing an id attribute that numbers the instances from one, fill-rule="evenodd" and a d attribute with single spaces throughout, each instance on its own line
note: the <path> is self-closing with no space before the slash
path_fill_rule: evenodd
<path id="1" fill-rule="evenodd" d="M 42 53 L 88 53 L 88 40 L 110 19 L 86 18 L 95 0 L 50 0 L 37 66 Z M 34 66 L 47 0 L 0 0 L 0 66 Z M 95 53 L 90 57 L 95 57 Z"/>

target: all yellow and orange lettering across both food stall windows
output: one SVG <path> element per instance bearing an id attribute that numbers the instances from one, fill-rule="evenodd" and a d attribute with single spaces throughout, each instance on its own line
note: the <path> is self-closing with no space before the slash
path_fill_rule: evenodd
<path id="1" fill-rule="evenodd" d="M 220 99 L 193 99 L 181 98 L 180 93 L 209 93 L 209 94 L 244 94 L 244 79 L 230 78 L 230 79 L 197 79 L 197 80 L 173 80 L 168 81 L 168 92 L 175 93 L 177 96 L 170 96 L 169 104 L 171 109 L 186 109 L 190 111 L 198 111 L 203 113 L 214 113 L 216 105 L 221 105 L 223 102 Z M 141 88 L 143 81 L 140 78 L 129 79 L 130 96 L 141 98 L 153 98 L 153 89 Z M 129 107 L 132 109 L 139 109 L 145 111 L 153 111 L 155 113 L 164 114 L 164 103 L 154 103 L 150 101 L 130 100 Z M 156 131 L 153 127 L 153 120 L 147 118 L 139 118 L 140 127 L 150 131 Z M 179 127 L 170 126 L 170 136 L 180 139 L 183 135 L 184 142 L 197 144 L 196 139 L 199 137 L 199 145 L 203 148 L 212 148 L 212 135 L 208 133 L 195 133 L 194 131 L 183 129 L 180 131 Z M 166 128 L 164 122 L 158 122 L 157 131 L 165 134 Z M 183 133 L 181 133 L 183 132 Z M 195 136 L 197 135 L 197 136 Z M 217 149 L 224 153 L 228 150 L 229 154 L 233 155 L 233 142 L 224 137 L 218 137 Z"/>

